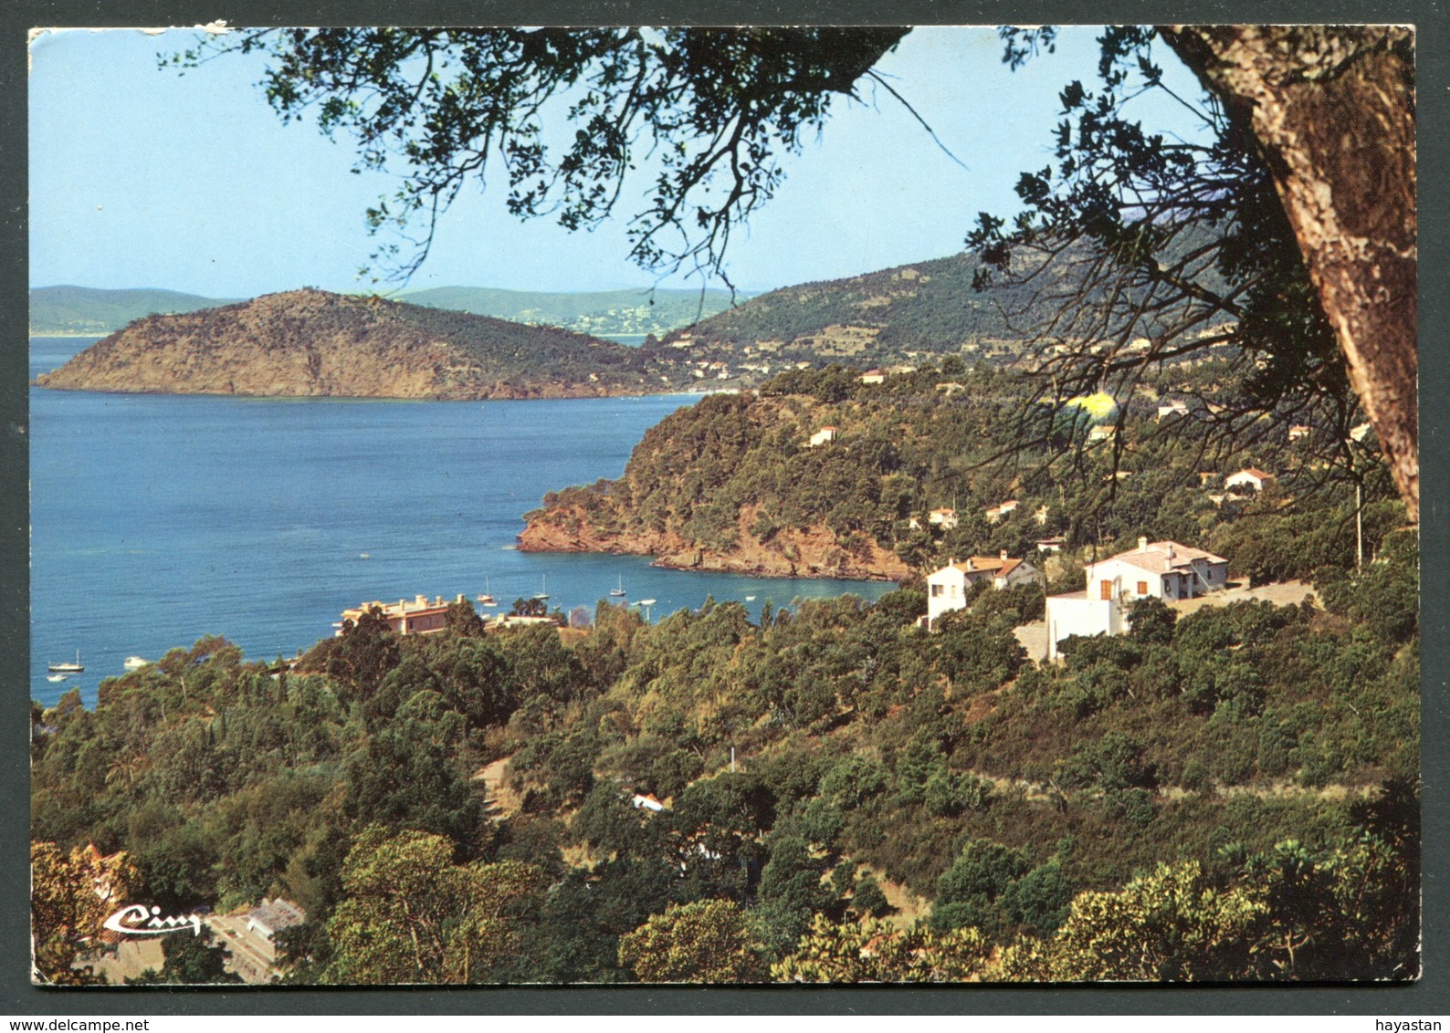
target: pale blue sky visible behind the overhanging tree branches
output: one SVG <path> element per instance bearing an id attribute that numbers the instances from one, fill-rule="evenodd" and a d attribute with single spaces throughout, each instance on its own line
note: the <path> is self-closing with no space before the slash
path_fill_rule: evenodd
<path id="1" fill-rule="evenodd" d="M 838 103 L 821 138 L 787 159 L 783 188 L 732 241 L 734 281 L 768 290 L 960 251 L 976 213 L 1015 212 L 1018 174 L 1048 162 L 1057 93 L 1093 78 L 1093 35 L 1067 30 L 1056 55 L 1009 72 L 995 29 L 914 30 L 879 71 L 967 168 L 887 94 Z M 184 75 L 158 70 L 158 54 L 194 38 L 68 30 L 32 43 L 30 284 L 210 297 L 370 288 L 357 275 L 377 243 L 362 213 L 394 181 L 351 174 L 347 138 L 331 142 L 310 122 L 283 125 L 257 87 L 255 58 Z M 1186 71 L 1177 84 L 1195 93 Z M 1193 127 L 1180 110 L 1147 101 L 1144 120 Z M 626 187 L 619 214 L 592 233 L 545 219 L 521 223 L 502 190 L 465 190 L 409 288 L 647 285 L 651 275 L 625 258 L 619 217 L 647 187 Z"/>

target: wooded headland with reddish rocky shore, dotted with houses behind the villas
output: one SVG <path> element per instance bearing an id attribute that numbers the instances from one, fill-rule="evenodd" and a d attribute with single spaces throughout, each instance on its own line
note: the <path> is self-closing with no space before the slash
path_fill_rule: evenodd
<path id="1" fill-rule="evenodd" d="M 1150 533 L 1228 556 L 1259 582 L 1353 556 L 1353 487 L 1325 484 L 1322 442 L 1290 442 L 1286 426 L 1264 423 L 1222 433 L 1212 407 L 1238 394 L 1224 364 L 1169 368 L 1121 400 L 1099 396 L 1102 416 L 1073 400 L 1034 403 L 1035 387 L 954 356 L 882 384 L 842 367 L 792 369 L 760 397 L 708 397 L 651 427 L 621 478 L 548 494 L 519 545 L 887 580 L 951 556 L 1032 556 L 1053 536 L 1073 552 Z M 1183 390 L 1193 406 L 1160 417 L 1159 401 Z M 1090 440 L 1099 425 L 1115 432 Z M 834 438 L 812 446 L 825 427 Z M 1253 465 L 1276 472 L 1275 488 L 1225 497 L 1224 480 Z M 1373 538 L 1402 517 L 1383 471 L 1367 488 Z M 1016 506 L 990 511 L 1002 503 Z M 931 527 L 934 509 L 954 510 L 956 526 Z"/>

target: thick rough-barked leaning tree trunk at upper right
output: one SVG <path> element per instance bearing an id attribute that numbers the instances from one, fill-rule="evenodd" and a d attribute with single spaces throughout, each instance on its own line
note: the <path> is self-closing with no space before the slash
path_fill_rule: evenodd
<path id="1" fill-rule="evenodd" d="M 1160 26 L 1263 151 L 1320 303 L 1420 520 L 1414 30 Z"/>

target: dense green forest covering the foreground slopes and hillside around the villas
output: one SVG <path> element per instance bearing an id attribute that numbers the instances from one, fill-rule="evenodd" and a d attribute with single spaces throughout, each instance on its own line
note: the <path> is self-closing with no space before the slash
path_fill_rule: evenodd
<path id="1" fill-rule="evenodd" d="M 294 984 L 1415 978 L 1418 538 L 1382 471 L 1359 566 L 1353 488 L 1312 440 L 1215 443 L 1192 411 L 1170 433 L 1135 397 L 1045 411 L 1038 449 L 1066 465 L 979 462 L 1011 443 L 1015 394 L 961 365 L 798 371 L 670 417 L 621 482 L 561 498 L 722 543 L 738 523 L 712 507 L 748 504 L 916 571 L 1057 532 L 1047 591 L 1148 533 L 1238 580 L 1302 578 L 1302 601 L 1144 600 L 1130 635 L 1051 665 L 1014 635 L 1043 587 L 929 633 L 916 575 L 758 622 L 602 601 L 494 632 L 461 604 L 397 636 L 367 614 L 294 665 L 206 639 L 104 681 L 94 710 L 33 708 L 41 975 L 94 978 L 103 916 L 72 887 L 103 856 L 165 913 L 294 901 Z M 828 420 L 838 439 L 800 448 Z M 1196 477 L 1215 448 L 1280 482 L 1215 504 Z M 953 501 L 957 527 L 909 529 Z M 165 943 L 145 979 L 219 971 L 218 948 Z"/>

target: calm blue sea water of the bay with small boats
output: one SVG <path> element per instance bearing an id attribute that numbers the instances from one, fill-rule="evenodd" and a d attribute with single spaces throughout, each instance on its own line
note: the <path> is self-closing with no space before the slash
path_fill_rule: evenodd
<path id="1" fill-rule="evenodd" d="M 91 340 L 38 338 L 30 377 Z M 30 390 L 30 677 L 91 706 L 126 656 L 203 635 L 290 656 L 342 608 L 415 594 L 508 610 L 545 588 L 566 611 L 654 598 L 654 620 L 708 595 L 760 606 L 879 582 L 661 571 L 642 556 L 521 553 L 545 491 L 618 477 L 644 432 L 695 398 L 252 400 Z M 367 553 L 367 558 L 364 558 Z M 46 665 L 81 652 L 86 672 Z"/>

